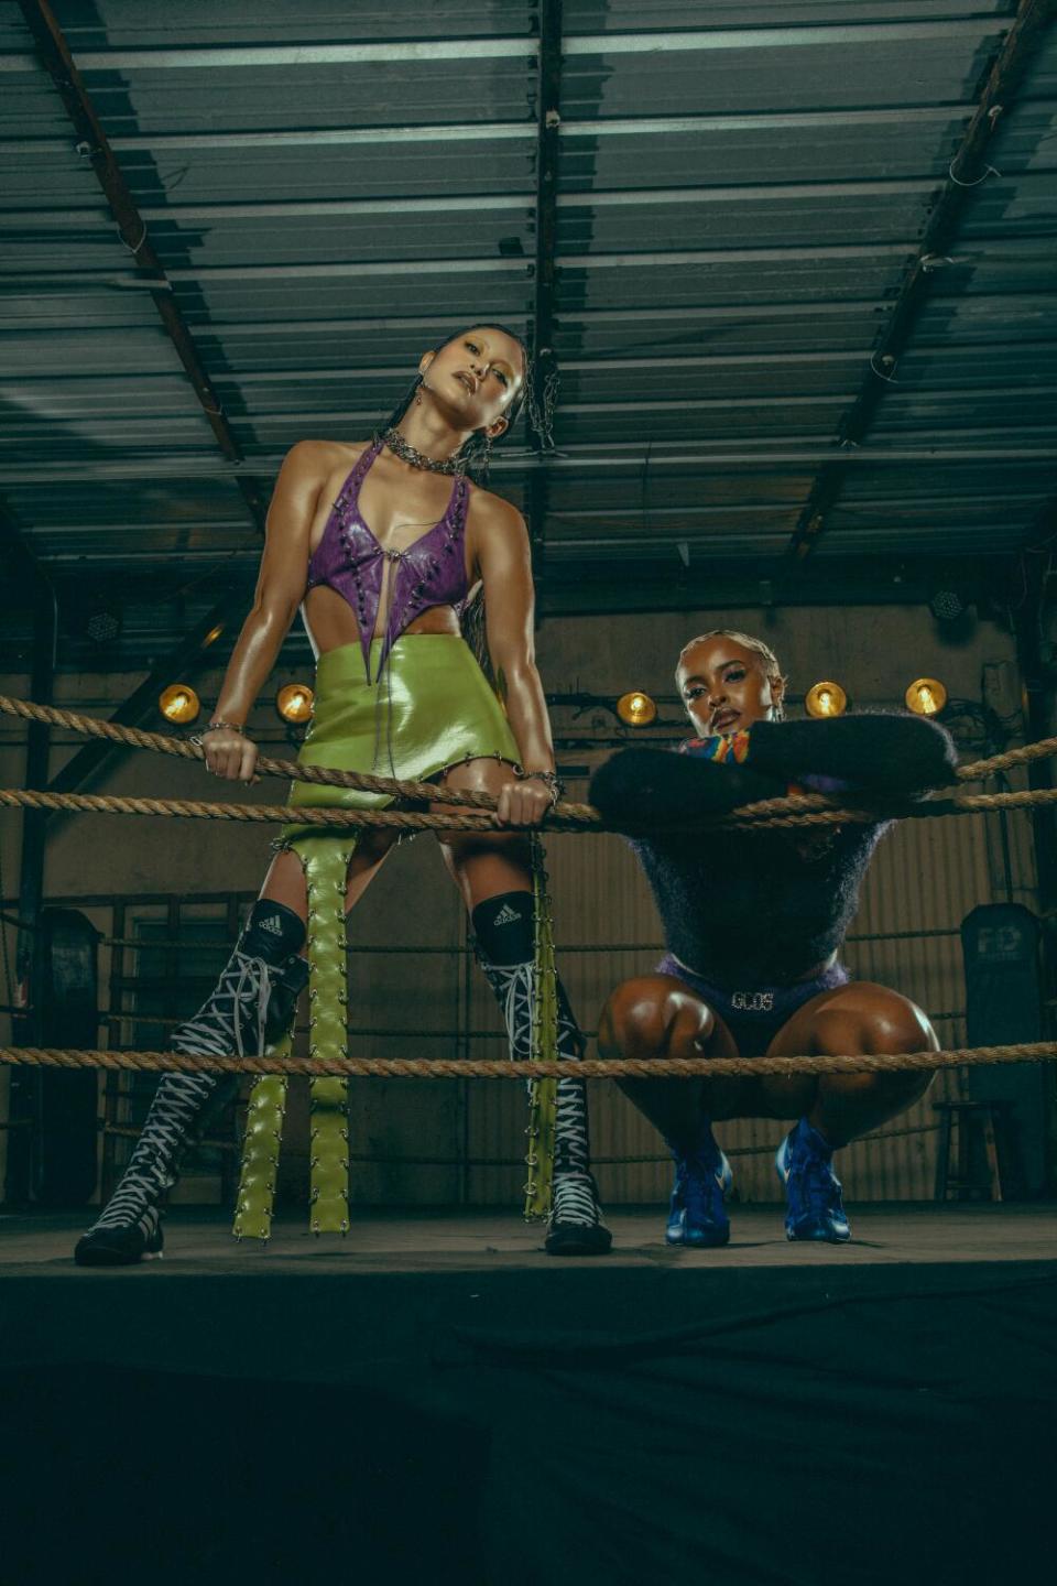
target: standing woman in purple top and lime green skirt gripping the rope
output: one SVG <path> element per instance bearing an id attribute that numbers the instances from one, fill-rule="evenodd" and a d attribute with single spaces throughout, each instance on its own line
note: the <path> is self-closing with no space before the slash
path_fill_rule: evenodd
<path id="1" fill-rule="evenodd" d="M 561 783 L 534 658 L 528 534 L 509 501 L 467 479 L 467 468 L 487 465 L 493 442 L 517 420 L 529 374 L 518 336 L 479 325 L 425 354 L 372 442 L 301 441 L 288 452 L 254 606 L 203 734 L 214 776 L 254 779 L 257 745 L 244 723 L 300 607 L 317 657 L 303 761 L 487 791 L 498 799 L 501 826 L 540 825 Z M 494 690 L 460 626 L 475 593 L 485 598 Z M 391 803 L 304 782 L 292 801 L 349 809 Z M 171 1037 L 174 1052 L 260 1055 L 288 1031 L 307 980 L 306 880 L 288 847 L 303 831 L 284 833 L 235 953 L 200 1012 Z M 388 829 L 361 831 L 345 910 L 396 841 Z M 445 831 L 439 841 L 510 1053 L 528 1058 L 537 994 L 529 839 Z M 558 982 L 558 1055 L 578 1059 L 583 1047 Z M 125 1266 L 162 1250 L 162 1196 L 228 1090 L 216 1075 L 163 1075 L 117 1190 L 76 1247 L 81 1266 Z M 590 1170 L 585 1086 L 561 1080 L 545 1248 L 602 1255 L 610 1242 Z"/>

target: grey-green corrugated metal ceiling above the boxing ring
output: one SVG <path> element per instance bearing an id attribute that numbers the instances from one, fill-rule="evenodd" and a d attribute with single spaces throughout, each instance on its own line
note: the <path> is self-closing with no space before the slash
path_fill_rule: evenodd
<path id="1" fill-rule="evenodd" d="M 531 328 L 536 0 L 54 13 L 265 488 L 296 439 L 361 438 L 439 333 Z M 867 444 L 837 454 L 1014 13 L 564 0 L 550 590 L 590 592 L 594 569 L 683 577 L 688 558 L 770 576 L 834 455 L 848 477 L 802 576 L 876 558 L 883 598 L 892 558 L 1038 536 L 1057 417 L 1052 30 Z M 59 579 L 132 600 L 138 569 L 166 569 L 193 584 L 185 617 L 211 566 L 255 563 L 236 465 L 14 5 L 0 98 L 0 492 Z M 539 466 L 520 438 L 494 484 L 525 504 Z M 184 617 L 144 606 L 127 631 Z"/>

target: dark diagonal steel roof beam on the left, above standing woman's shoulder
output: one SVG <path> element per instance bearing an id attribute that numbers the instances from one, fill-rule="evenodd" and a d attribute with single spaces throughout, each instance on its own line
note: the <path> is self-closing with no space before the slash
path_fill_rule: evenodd
<path id="1" fill-rule="evenodd" d="M 33 35 L 40 60 L 59 90 L 67 116 L 73 122 L 81 144 L 84 146 L 84 152 L 92 165 L 92 170 L 95 171 L 95 178 L 103 189 L 109 211 L 117 224 L 117 233 L 135 259 L 138 268 L 149 273 L 146 279 L 135 279 L 146 285 L 154 298 L 158 317 L 162 319 L 162 324 L 165 325 L 165 330 L 176 349 L 176 355 L 187 371 L 192 390 L 195 392 L 195 396 L 198 398 L 198 403 L 209 422 L 209 428 L 216 436 L 217 446 L 228 462 L 239 463 L 242 462 L 239 444 L 228 427 L 220 406 L 220 398 L 212 389 L 209 376 L 206 374 L 201 358 L 198 357 L 198 349 L 195 347 L 187 320 L 173 300 L 165 270 L 147 236 L 146 222 L 143 220 L 122 170 L 114 159 L 106 133 L 103 132 L 103 125 L 95 113 L 95 106 L 92 105 L 87 89 L 84 87 L 84 81 L 70 52 L 70 46 L 67 44 L 65 35 L 59 27 L 48 0 L 19 0 L 19 5 L 27 27 Z M 239 490 L 257 528 L 263 533 L 263 514 L 255 511 L 250 504 L 258 500 L 258 492 L 255 490 L 252 481 L 242 481 L 239 484 Z"/>

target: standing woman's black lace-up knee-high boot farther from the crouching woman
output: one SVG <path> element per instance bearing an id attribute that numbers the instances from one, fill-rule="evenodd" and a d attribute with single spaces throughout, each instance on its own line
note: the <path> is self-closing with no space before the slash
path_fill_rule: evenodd
<path id="1" fill-rule="evenodd" d="M 298 958 L 300 917 L 280 902 L 254 904 L 217 985 L 170 1037 L 193 1056 L 260 1056 L 293 1023 L 309 967 Z M 162 1253 L 162 1197 L 190 1145 L 238 1090 L 235 1074 L 163 1074 L 120 1183 L 73 1253 L 82 1267 L 132 1266 Z"/>

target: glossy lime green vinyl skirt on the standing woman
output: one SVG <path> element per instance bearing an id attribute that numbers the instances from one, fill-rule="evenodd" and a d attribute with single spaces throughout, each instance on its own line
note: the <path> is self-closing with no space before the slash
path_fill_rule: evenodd
<path id="1" fill-rule="evenodd" d="M 382 641 L 371 646 L 377 676 Z M 312 723 L 300 764 L 426 782 L 450 766 L 479 758 L 518 760 L 502 704 L 458 634 L 417 633 L 396 639 L 377 682 L 368 682 L 363 650 L 342 644 L 320 655 Z M 295 782 L 295 806 L 383 809 L 388 793 Z M 319 826 L 285 826 L 280 845 Z"/>

